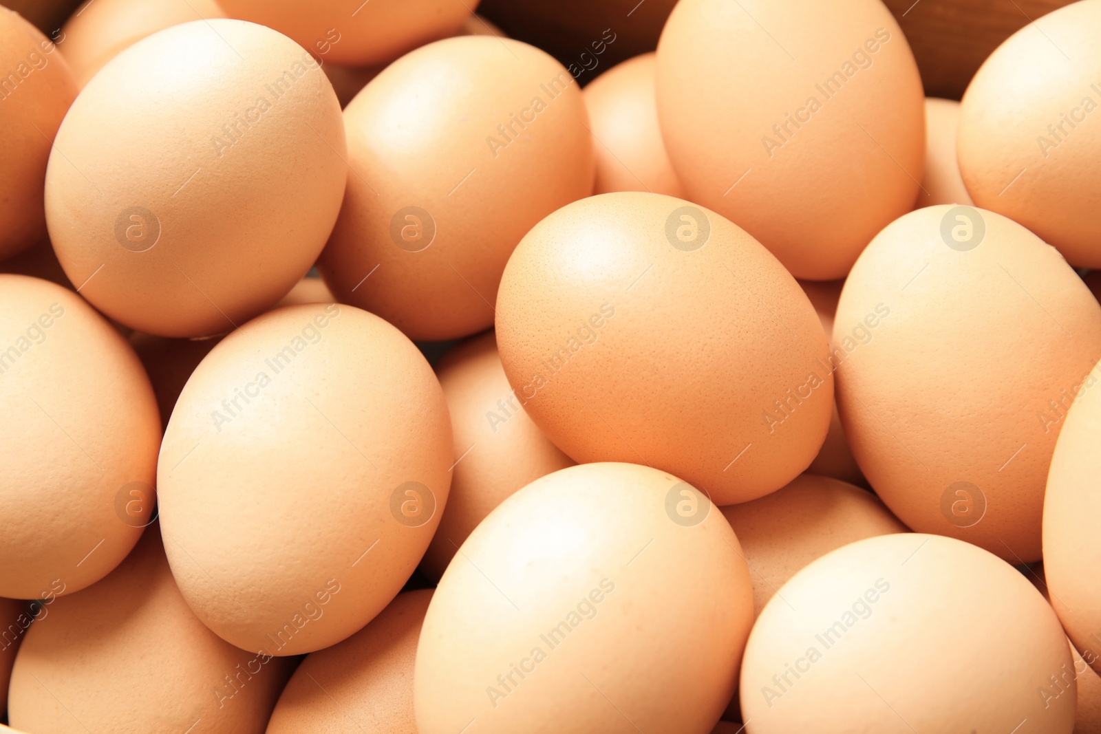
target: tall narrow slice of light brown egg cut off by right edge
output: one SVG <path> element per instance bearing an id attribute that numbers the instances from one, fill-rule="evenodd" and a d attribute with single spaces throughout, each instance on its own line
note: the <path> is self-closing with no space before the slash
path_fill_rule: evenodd
<path id="1" fill-rule="evenodd" d="M 1057 397 L 1062 424 L 1044 499 L 1044 570 L 1062 626 L 1101 672 L 1101 364 Z M 1066 417 L 1064 417 L 1064 415 Z"/>

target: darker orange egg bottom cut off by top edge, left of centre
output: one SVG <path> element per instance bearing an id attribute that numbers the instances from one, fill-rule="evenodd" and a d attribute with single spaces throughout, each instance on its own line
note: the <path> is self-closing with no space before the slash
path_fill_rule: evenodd
<path id="1" fill-rule="evenodd" d="M 334 64 L 385 64 L 456 33 L 479 0 L 219 0 L 233 18 L 262 23 Z"/>

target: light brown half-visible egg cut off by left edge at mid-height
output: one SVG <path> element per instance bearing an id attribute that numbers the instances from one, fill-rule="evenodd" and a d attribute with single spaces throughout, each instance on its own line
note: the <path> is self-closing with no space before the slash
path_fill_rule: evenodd
<path id="1" fill-rule="evenodd" d="M 161 438 L 149 379 L 80 296 L 0 275 L 0 595 L 84 589 L 149 519 Z"/>

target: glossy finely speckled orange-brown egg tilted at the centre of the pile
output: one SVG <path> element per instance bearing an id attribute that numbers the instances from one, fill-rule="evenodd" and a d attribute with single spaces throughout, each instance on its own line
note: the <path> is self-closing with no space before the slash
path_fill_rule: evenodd
<path id="1" fill-rule="evenodd" d="M 713 211 L 635 191 L 564 207 L 516 248 L 497 317 L 510 384 L 576 461 L 645 463 L 731 504 L 822 445 L 833 384 L 814 308 Z"/>

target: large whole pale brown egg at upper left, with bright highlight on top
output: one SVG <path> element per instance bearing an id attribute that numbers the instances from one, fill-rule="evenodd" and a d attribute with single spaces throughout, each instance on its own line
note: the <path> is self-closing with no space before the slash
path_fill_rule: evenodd
<path id="1" fill-rule="evenodd" d="M 146 333 L 209 336 L 306 274 L 346 176 L 340 106 L 313 57 L 260 25 L 195 21 L 85 86 L 51 155 L 46 217 L 99 310 Z"/>

